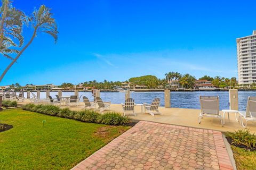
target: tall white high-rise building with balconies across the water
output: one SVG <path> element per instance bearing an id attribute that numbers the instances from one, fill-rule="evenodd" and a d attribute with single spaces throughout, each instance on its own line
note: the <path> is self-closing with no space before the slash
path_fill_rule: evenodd
<path id="1" fill-rule="evenodd" d="M 236 39 L 238 84 L 256 83 L 256 30 Z"/>

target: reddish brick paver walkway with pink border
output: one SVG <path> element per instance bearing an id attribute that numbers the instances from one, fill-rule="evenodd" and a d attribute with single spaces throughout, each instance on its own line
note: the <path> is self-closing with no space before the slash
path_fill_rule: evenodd
<path id="1" fill-rule="evenodd" d="M 140 121 L 73 169 L 233 169 L 221 132 Z"/>

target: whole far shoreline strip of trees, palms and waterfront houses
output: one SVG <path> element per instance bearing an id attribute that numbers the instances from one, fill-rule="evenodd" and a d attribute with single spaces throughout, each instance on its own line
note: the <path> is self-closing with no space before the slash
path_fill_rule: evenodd
<path id="1" fill-rule="evenodd" d="M 198 82 L 203 80 L 204 82 Z M 223 78 L 220 76 L 210 77 L 204 75 L 202 78 L 196 79 L 190 74 L 180 74 L 179 72 L 169 72 L 164 74 L 164 78 L 157 78 L 155 75 L 143 75 L 141 77 L 133 77 L 126 81 L 85 81 L 78 84 L 64 82 L 60 86 L 54 84 L 34 85 L 26 84 L 20 86 L 19 83 L 6 86 L 5 89 L 14 89 L 16 91 L 31 91 L 31 90 L 63 90 L 63 91 L 91 91 L 92 89 L 100 89 L 102 91 L 116 91 L 115 88 L 131 89 L 132 91 L 163 91 L 169 89 L 171 91 L 196 91 L 198 83 L 203 87 L 214 87 L 214 90 L 228 90 L 228 89 L 254 89 L 256 90 L 256 83 L 253 84 L 238 84 L 235 77 Z M 1 89 L 1 87 L 0 87 Z M 3 88 L 2 88 L 3 89 Z M 210 89 L 209 89 L 210 90 Z"/>

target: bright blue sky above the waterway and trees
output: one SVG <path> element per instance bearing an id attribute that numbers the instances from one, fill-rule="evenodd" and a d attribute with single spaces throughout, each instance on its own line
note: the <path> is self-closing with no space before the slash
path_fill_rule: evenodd
<path id="1" fill-rule="evenodd" d="M 253 1 L 14 0 L 27 15 L 45 4 L 59 40 L 38 33 L 0 85 L 125 81 L 170 71 L 237 77 L 236 38 L 256 29 Z M 25 43 L 31 37 L 25 28 Z M 0 56 L 0 72 L 10 61 Z"/>

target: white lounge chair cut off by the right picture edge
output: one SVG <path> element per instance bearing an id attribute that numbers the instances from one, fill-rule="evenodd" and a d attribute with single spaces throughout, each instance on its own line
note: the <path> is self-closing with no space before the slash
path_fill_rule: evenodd
<path id="1" fill-rule="evenodd" d="M 246 111 L 238 111 L 241 125 L 246 128 L 248 121 L 256 121 L 256 97 L 248 97 Z M 243 123 L 245 120 L 245 125 Z"/>

